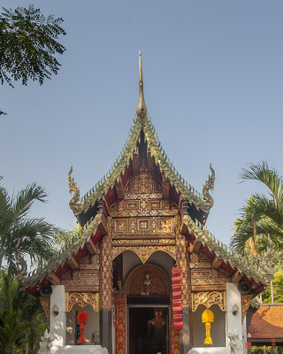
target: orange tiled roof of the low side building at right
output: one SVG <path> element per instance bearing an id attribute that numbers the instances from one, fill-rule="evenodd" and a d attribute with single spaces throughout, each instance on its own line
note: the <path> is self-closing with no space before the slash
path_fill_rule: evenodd
<path id="1" fill-rule="evenodd" d="M 262 305 L 252 316 L 248 334 L 253 338 L 283 338 L 283 304 Z"/>

